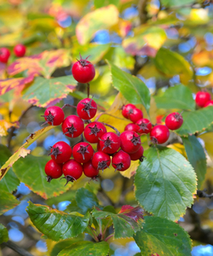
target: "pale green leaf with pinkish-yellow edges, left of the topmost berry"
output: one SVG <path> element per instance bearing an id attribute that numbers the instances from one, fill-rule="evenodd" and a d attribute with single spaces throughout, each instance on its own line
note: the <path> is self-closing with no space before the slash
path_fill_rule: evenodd
<path id="1" fill-rule="evenodd" d="M 75 90 L 77 81 L 72 76 L 55 79 L 38 77 L 32 86 L 26 89 L 23 99 L 40 108 L 60 102 L 69 92 Z"/>

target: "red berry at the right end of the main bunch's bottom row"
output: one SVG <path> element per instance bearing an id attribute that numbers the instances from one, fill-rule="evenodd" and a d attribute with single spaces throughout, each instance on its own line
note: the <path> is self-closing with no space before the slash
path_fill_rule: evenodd
<path id="1" fill-rule="evenodd" d="M 130 167 L 130 164 L 130 154 L 121 149 L 112 156 L 112 166 L 115 168 L 115 171 L 123 172 Z"/>

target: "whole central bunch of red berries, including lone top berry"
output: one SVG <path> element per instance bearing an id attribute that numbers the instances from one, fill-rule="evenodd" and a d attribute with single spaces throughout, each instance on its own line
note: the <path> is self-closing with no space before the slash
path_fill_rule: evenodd
<path id="1" fill-rule="evenodd" d="M 72 66 L 72 75 L 78 83 L 86 83 L 94 79 L 95 67 L 87 60 L 80 60 Z M 69 115 L 65 118 L 63 108 L 70 106 L 76 108 L 78 115 Z M 92 98 L 84 98 L 78 102 L 77 107 L 66 104 L 63 108 L 49 107 L 44 112 L 45 123 L 49 125 L 61 125 L 63 133 L 67 137 L 82 139 L 72 148 L 65 142 L 55 143 L 50 150 L 51 160 L 45 166 L 47 180 L 64 175 L 66 183 L 73 182 L 84 173 L 86 177 L 96 179 L 99 171 L 102 172 L 112 163 L 115 171 L 124 172 L 130 167 L 131 160 L 143 160 L 144 149 L 141 146 L 141 135 L 150 133 L 153 143 L 165 143 L 170 137 L 170 130 L 181 127 L 182 117 L 180 113 L 170 113 L 166 119 L 166 125 L 153 126 L 148 119 L 143 118 L 143 113 L 133 104 L 127 104 L 122 108 L 124 118 L 132 123 L 126 125 L 124 132 L 120 133 L 112 125 L 91 121 L 97 112 L 97 105 Z M 107 132 L 106 126 L 115 132 Z M 87 142 L 83 141 L 83 137 Z M 96 144 L 97 152 L 91 144 Z M 71 159 L 72 157 L 72 159 Z"/>

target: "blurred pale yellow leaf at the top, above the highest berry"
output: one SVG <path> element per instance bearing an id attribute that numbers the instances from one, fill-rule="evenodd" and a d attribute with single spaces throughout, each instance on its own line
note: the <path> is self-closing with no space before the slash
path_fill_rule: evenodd
<path id="1" fill-rule="evenodd" d="M 118 9 L 110 4 L 107 7 L 95 9 L 95 11 L 84 15 L 76 26 L 76 35 L 80 44 L 89 43 L 95 32 L 107 29 L 118 23 Z"/>

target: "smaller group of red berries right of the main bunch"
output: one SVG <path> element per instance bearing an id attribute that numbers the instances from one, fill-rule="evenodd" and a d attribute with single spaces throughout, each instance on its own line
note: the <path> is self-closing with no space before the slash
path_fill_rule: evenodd
<path id="1" fill-rule="evenodd" d="M 133 131 L 139 135 L 149 134 L 153 143 L 166 143 L 170 137 L 170 130 L 174 131 L 181 127 L 183 119 L 181 113 L 170 113 L 165 119 L 165 125 L 152 125 L 149 119 L 143 118 L 141 109 L 133 104 L 127 104 L 122 109 L 124 118 L 130 119 L 132 123 L 125 126 L 125 131 Z M 170 129 L 170 130 L 169 130 Z"/>

